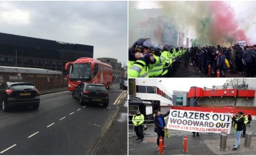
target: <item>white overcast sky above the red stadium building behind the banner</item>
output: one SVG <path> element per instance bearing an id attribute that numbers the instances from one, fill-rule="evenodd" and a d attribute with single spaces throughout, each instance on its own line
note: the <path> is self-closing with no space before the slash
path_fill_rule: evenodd
<path id="1" fill-rule="evenodd" d="M 228 78 L 158 78 L 160 83 L 172 94 L 173 90 L 189 91 L 191 86 L 212 88 L 222 86 Z"/>

